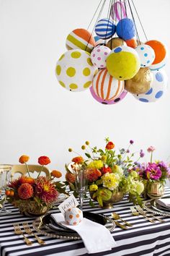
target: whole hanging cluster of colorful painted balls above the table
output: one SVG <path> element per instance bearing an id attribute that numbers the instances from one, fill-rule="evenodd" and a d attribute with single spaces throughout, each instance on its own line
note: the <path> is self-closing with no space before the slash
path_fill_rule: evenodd
<path id="1" fill-rule="evenodd" d="M 128 92 L 141 102 L 157 101 L 167 86 L 166 47 L 158 40 L 140 43 L 125 12 L 115 25 L 115 8 L 109 19 L 97 22 L 96 36 L 84 28 L 67 36 L 68 51 L 55 68 L 58 82 L 72 92 L 89 89 L 104 104 L 120 102 Z"/>

